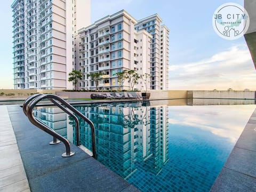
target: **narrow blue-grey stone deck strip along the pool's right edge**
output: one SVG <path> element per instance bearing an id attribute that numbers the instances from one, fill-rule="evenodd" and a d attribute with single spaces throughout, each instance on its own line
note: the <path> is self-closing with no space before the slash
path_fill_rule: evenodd
<path id="1" fill-rule="evenodd" d="M 256 191 L 256 109 L 211 191 Z"/>

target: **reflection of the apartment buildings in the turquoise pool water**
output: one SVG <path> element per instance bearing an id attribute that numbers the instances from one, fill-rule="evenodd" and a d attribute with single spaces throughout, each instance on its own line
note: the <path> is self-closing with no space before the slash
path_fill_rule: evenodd
<path id="1" fill-rule="evenodd" d="M 168 107 L 149 105 L 132 102 L 75 106 L 94 123 L 98 161 L 125 179 L 137 170 L 159 174 L 169 160 Z M 37 108 L 34 114 L 75 143 L 73 118 L 62 110 Z M 84 121 L 79 125 L 81 144 L 91 150 L 90 126 Z"/>

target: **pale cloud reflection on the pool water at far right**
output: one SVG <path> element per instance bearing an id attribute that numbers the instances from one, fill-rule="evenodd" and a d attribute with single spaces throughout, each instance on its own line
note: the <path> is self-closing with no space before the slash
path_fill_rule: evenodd
<path id="1" fill-rule="evenodd" d="M 172 106 L 169 123 L 197 127 L 235 143 L 253 113 L 254 105 Z"/>

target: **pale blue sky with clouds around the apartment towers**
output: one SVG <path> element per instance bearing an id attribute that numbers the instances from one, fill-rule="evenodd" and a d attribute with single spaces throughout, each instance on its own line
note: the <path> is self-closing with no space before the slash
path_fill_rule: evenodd
<path id="1" fill-rule="evenodd" d="M 13 88 L 12 11 L 13 1 L 0 7 L 0 89 Z M 170 29 L 170 90 L 256 90 L 256 70 L 243 37 L 230 41 L 212 27 L 214 11 L 233 1 L 91 0 L 91 22 L 126 10 L 140 20 L 157 13 Z"/>

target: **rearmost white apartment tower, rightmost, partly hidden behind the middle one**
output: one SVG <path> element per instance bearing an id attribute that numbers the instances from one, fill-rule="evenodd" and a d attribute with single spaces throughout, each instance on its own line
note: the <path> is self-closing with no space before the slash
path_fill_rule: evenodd
<path id="1" fill-rule="evenodd" d="M 141 19 L 135 29 L 152 35 L 150 44 L 150 89 L 168 90 L 169 87 L 169 29 L 161 25 L 158 14 Z"/>

